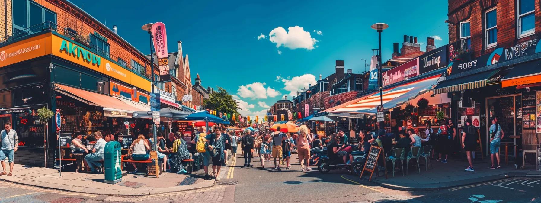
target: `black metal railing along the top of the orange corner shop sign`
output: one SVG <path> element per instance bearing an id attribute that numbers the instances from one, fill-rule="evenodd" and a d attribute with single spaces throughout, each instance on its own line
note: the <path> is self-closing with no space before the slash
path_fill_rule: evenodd
<path id="1" fill-rule="evenodd" d="M 133 70 L 135 73 L 140 74 L 140 75 L 142 75 L 142 76 L 144 76 L 144 77 L 146 77 L 146 78 L 148 78 L 150 80 L 152 79 L 151 74 L 147 73 L 147 70 L 150 68 L 150 63 L 148 63 L 148 64 L 144 63 L 142 65 L 143 69 L 135 68 L 135 67 L 131 66 L 129 60 L 126 61 L 126 59 L 129 58 L 129 57 L 127 57 L 125 55 L 121 56 L 120 53 L 116 53 L 116 50 L 110 50 L 110 49 L 109 50 L 104 50 L 102 48 L 99 48 L 95 44 L 90 43 L 90 36 L 81 35 L 75 29 L 72 29 L 72 28 L 69 28 L 69 27 L 63 28 L 63 27 L 60 27 L 57 24 L 52 23 L 50 21 L 44 22 L 44 23 L 41 23 L 41 24 L 37 24 L 37 25 L 32 25 L 29 28 L 15 31 L 12 35 L 8 35 L 8 36 L 0 38 L 0 47 L 2 47 L 4 44 L 9 43 L 11 41 L 18 40 L 19 38 L 22 38 L 22 37 L 25 37 L 25 36 L 28 36 L 28 35 L 32 35 L 32 34 L 36 34 L 38 32 L 47 32 L 47 31 L 56 31 L 59 34 L 62 34 L 63 36 L 70 38 L 72 41 L 81 43 L 82 45 L 84 45 L 89 50 L 92 50 L 97 54 L 100 54 L 100 55 L 102 55 L 104 57 L 109 58 L 109 60 L 111 60 L 111 61 L 117 61 L 118 58 L 121 58 L 125 62 L 125 63 L 118 62 L 119 64 L 121 64 L 121 66 L 123 66 L 123 67 L 125 67 L 127 69 L 130 69 L 130 70 Z M 131 58 L 129 58 L 129 59 L 131 59 Z"/>

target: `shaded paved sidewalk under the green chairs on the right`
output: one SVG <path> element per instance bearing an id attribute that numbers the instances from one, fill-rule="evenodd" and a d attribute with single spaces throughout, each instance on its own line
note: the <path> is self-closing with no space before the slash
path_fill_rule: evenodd
<path id="1" fill-rule="evenodd" d="M 524 170 L 516 169 L 513 165 L 514 162 L 512 161 L 509 162 L 509 165 L 502 164 L 502 168 L 488 169 L 487 167 L 490 166 L 490 159 L 484 159 L 482 161 L 476 160 L 473 162 L 475 169 L 473 172 L 464 171 L 468 166 L 466 160 L 450 159 L 448 163 L 442 163 L 436 160 L 431 161 L 432 168 L 428 169 L 428 171 L 425 171 L 425 161 L 420 161 L 420 174 L 416 167 L 410 167 L 409 173 L 404 173 L 404 176 L 402 175 L 402 172 L 395 172 L 395 176 L 393 177 L 393 173 L 390 172 L 388 173 L 388 179 L 385 179 L 385 176 L 380 172 L 380 176 L 374 179 L 374 172 L 372 182 L 389 189 L 401 191 L 426 191 L 477 184 L 479 182 L 511 178 L 514 176 L 533 175 L 532 171 L 527 170 L 531 169 L 531 166 Z M 411 161 L 411 163 L 413 162 L 414 161 Z M 347 178 L 359 180 L 359 176 L 357 175 L 348 175 Z M 367 181 L 368 175 L 363 175 L 362 180 Z"/>

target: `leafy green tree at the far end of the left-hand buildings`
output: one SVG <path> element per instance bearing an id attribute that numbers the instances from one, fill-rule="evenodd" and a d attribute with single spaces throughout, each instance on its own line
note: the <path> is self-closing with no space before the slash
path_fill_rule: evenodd
<path id="1" fill-rule="evenodd" d="M 233 96 L 227 93 L 226 89 L 217 87 L 218 90 L 210 93 L 208 100 L 204 100 L 203 104 L 206 108 L 215 110 L 216 112 L 227 114 L 239 114 L 237 108 L 239 108 Z"/>

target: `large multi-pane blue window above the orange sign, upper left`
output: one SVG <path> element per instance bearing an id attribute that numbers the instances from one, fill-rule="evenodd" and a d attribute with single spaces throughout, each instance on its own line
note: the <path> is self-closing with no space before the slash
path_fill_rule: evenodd
<path id="1" fill-rule="evenodd" d="M 56 13 L 29 0 L 13 0 L 13 32 L 21 30 L 34 33 L 48 26 L 46 22 L 56 24 Z M 30 28 L 30 29 L 29 29 Z"/>

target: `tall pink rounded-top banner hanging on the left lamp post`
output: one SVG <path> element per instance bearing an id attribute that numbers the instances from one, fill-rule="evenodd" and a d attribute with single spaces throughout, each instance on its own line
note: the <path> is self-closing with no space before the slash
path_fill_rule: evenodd
<path id="1" fill-rule="evenodd" d="M 166 25 L 162 22 L 157 22 L 152 25 L 152 35 L 154 36 L 154 48 L 158 58 L 158 66 L 160 67 L 160 82 L 171 81 L 169 75 L 169 61 L 167 57 L 167 35 Z"/>

